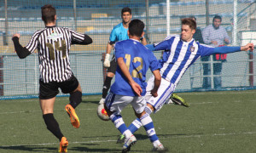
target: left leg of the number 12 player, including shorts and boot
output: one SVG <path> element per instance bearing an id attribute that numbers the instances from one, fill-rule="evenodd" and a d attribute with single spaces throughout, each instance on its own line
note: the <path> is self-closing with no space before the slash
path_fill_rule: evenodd
<path id="1" fill-rule="evenodd" d="M 123 146 L 123 152 L 127 152 L 131 149 L 131 145 L 135 144 L 137 139 L 131 133 L 131 131 L 126 127 L 125 122 L 121 116 L 121 111 L 126 105 L 131 103 L 133 97 L 122 96 L 109 93 L 105 100 L 105 110 L 108 112 L 110 120 L 113 122 L 114 126 L 125 136 L 125 144 Z"/>

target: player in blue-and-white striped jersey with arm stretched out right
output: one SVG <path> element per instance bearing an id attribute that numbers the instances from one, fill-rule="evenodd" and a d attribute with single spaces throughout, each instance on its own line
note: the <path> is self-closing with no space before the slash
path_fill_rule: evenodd
<path id="1" fill-rule="evenodd" d="M 158 96 L 154 97 L 150 94 L 150 90 L 154 87 L 154 77 L 148 80 L 146 112 L 150 115 L 152 112 L 160 111 L 161 107 L 166 103 L 166 99 L 170 97 L 172 92 L 180 81 L 184 72 L 188 70 L 196 59 L 211 54 L 229 54 L 237 51 L 253 50 L 253 43 L 247 43 L 246 46 L 241 47 L 218 47 L 213 48 L 207 45 L 203 45 L 199 42 L 195 42 L 193 35 L 195 34 L 196 23 L 191 18 L 185 18 L 182 20 L 181 34 L 172 35 L 166 37 L 163 42 L 149 45 L 151 50 L 164 50 L 162 59 L 160 59 L 160 74 L 161 84 L 158 89 Z M 142 126 L 140 119 L 136 119 L 128 127 L 131 133 L 137 131 Z"/>

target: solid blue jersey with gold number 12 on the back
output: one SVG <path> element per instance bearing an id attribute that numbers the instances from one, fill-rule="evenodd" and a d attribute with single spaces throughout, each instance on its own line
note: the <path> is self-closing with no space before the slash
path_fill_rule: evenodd
<path id="1" fill-rule="evenodd" d="M 151 71 L 160 69 L 160 64 L 153 52 L 143 46 L 141 42 L 134 39 L 116 42 L 114 48 L 116 59 L 124 58 L 132 79 L 143 88 L 141 95 L 145 95 L 147 87 L 146 73 L 148 68 L 150 68 Z M 120 70 L 119 65 L 117 66 L 115 74 L 115 82 L 111 86 L 110 91 L 113 92 L 113 94 L 137 96 Z"/>

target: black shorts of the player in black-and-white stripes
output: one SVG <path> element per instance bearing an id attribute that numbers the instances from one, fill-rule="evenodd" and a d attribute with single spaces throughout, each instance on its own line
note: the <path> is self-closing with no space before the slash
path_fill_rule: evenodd
<path id="1" fill-rule="evenodd" d="M 63 94 L 73 92 L 79 87 L 79 81 L 76 77 L 72 76 L 65 82 L 48 82 L 44 83 L 39 81 L 39 99 L 52 99 L 60 93 L 59 88 Z"/>

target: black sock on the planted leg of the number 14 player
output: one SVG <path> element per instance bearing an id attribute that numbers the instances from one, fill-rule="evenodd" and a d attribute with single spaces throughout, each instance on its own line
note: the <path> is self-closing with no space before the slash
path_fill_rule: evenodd
<path id="1" fill-rule="evenodd" d="M 64 137 L 61 133 L 61 129 L 59 127 L 58 122 L 56 122 L 55 117 L 53 114 L 44 114 L 43 115 L 44 122 L 47 126 L 47 129 L 55 135 L 56 138 L 58 138 L 61 141 L 61 138 Z"/>

